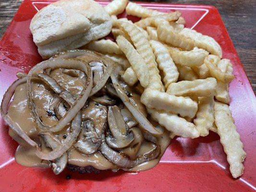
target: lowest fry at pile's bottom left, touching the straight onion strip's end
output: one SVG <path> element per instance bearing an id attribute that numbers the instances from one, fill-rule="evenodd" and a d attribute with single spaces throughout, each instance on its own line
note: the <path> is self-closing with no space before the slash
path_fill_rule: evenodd
<path id="1" fill-rule="evenodd" d="M 147 112 L 151 117 L 158 121 L 168 131 L 183 138 L 199 137 L 199 132 L 195 129 L 195 125 L 185 119 L 178 117 L 176 114 L 157 111 L 156 109 L 147 108 Z"/>

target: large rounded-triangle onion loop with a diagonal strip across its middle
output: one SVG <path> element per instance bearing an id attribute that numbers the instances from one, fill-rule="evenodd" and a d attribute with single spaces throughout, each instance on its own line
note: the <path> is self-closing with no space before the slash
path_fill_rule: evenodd
<path id="1" fill-rule="evenodd" d="M 47 127 L 45 125 L 42 124 L 42 122 L 40 121 L 38 115 L 37 115 L 37 111 L 36 111 L 36 107 L 35 104 L 33 102 L 32 99 L 32 91 L 31 91 L 31 79 L 34 75 L 36 75 L 35 73 L 37 73 L 38 71 L 43 71 L 45 69 L 48 68 L 66 68 L 66 69 L 78 69 L 82 72 L 84 72 L 87 75 L 87 79 L 85 82 L 85 87 L 83 88 L 81 95 L 79 95 L 77 97 L 77 99 L 75 101 L 73 100 L 73 96 L 66 90 L 64 90 L 63 88 L 61 88 L 60 85 L 58 85 L 56 83 L 55 80 L 53 80 L 51 77 L 45 75 L 45 74 L 40 74 L 37 77 L 40 77 L 41 79 L 44 80 L 44 82 L 46 82 L 47 84 L 49 84 L 49 86 L 51 88 L 53 88 L 53 90 L 60 94 L 60 96 L 70 104 L 71 108 L 68 110 L 68 112 L 64 115 L 64 117 L 59 120 L 57 122 L 56 125 L 52 126 L 52 127 Z M 41 63 L 38 63 L 36 66 L 34 66 L 30 72 L 28 73 L 27 76 L 27 96 L 28 96 L 28 102 L 29 102 L 29 107 L 32 111 L 32 116 L 35 120 L 35 122 L 37 123 L 39 129 L 41 132 L 58 132 L 61 129 L 63 129 L 71 120 L 73 120 L 73 118 L 75 117 L 75 115 L 77 114 L 77 112 L 84 106 L 90 91 L 92 89 L 92 71 L 91 68 L 89 67 L 89 65 L 87 63 L 85 63 L 84 61 L 81 60 L 76 60 L 76 59 L 55 59 L 55 60 L 46 60 L 43 61 Z"/>

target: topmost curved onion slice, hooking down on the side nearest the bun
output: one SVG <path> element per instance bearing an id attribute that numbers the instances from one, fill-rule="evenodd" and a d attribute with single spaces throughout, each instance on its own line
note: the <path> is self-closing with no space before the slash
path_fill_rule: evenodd
<path id="1" fill-rule="evenodd" d="M 65 52 L 61 52 L 59 54 L 57 54 L 56 56 L 52 57 L 51 59 L 60 59 L 60 58 L 76 58 L 79 56 L 85 56 L 83 58 L 83 60 L 87 63 L 91 63 L 93 61 L 98 61 L 98 62 L 102 62 L 106 68 L 105 71 L 102 75 L 102 78 L 99 82 L 97 82 L 97 84 L 92 88 L 90 96 L 93 96 L 94 94 L 96 94 L 108 81 L 110 74 L 113 70 L 113 66 L 115 65 L 114 61 L 111 60 L 108 57 L 105 57 L 104 55 L 95 52 L 95 51 L 91 51 L 91 50 L 80 50 L 80 49 L 75 49 L 75 50 L 69 50 L 69 51 L 65 51 Z"/>

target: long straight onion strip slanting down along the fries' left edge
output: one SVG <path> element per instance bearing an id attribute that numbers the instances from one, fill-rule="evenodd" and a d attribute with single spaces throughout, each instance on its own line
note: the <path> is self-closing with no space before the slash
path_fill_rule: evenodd
<path id="1" fill-rule="evenodd" d="M 141 127 L 146 131 L 158 135 L 161 134 L 147 119 L 146 117 L 139 111 L 138 108 L 133 104 L 133 102 L 129 99 L 129 97 L 125 94 L 124 90 L 122 89 L 121 85 L 118 82 L 118 72 L 120 69 L 116 67 L 114 71 L 111 73 L 110 77 L 112 83 L 117 91 L 118 96 L 121 98 L 124 105 L 130 110 L 133 114 L 134 118 L 139 122 Z"/>

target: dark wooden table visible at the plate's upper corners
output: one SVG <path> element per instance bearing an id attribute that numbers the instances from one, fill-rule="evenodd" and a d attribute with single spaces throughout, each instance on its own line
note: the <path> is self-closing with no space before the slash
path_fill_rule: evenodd
<path id="1" fill-rule="evenodd" d="M 208 4 L 218 8 L 233 44 L 256 93 L 256 3 L 255 0 L 164 0 L 158 2 Z M 0 0 L 0 37 L 22 0 Z"/>

